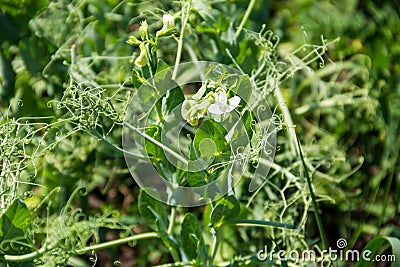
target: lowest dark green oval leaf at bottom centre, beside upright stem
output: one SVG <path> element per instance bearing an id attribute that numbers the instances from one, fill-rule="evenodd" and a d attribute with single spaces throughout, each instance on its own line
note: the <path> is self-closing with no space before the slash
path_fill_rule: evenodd
<path id="1" fill-rule="evenodd" d="M 206 262 L 208 248 L 204 243 L 199 221 L 192 213 L 187 213 L 183 219 L 181 241 L 183 251 L 190 260 L 201 259 L 203 263 Z"/>

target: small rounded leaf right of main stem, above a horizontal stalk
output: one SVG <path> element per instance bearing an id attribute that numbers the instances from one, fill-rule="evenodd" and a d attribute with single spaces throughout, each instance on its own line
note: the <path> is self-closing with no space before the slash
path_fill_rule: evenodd
<path id="1" fill-rule="evenodd" d="M 233 219 L 240 213 L 240 203 L 234 196 L 225 196 L 218 201 L 211 212 L 211 225 L 219 228 L 224 221 Z"/>

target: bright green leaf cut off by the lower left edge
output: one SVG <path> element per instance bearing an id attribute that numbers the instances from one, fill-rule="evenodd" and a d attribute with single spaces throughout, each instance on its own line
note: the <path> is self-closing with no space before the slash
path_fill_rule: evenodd
<path id="1" fill-rule="evenodd" d="M 19 199 L 7 208 L 0 217 L 1 254 L 22 255 L 32 252 L 28 236 L 31 214 L 25 203 Z M 1 262 L 0 262 L 1 263 Z M 9 266 L 33 266 L 33 261 L 10 263 Z"/>

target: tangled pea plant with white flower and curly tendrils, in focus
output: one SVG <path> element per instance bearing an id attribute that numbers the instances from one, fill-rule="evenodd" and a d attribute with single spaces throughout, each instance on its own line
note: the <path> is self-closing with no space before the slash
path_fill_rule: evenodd
<path id="1" fill-rule="evenodd" d="M 293 116 L 376 106 L 361 63 L 329 59 L 338 40 L 288 49 L 248 27 L 254 0 L 45 2 L 29 22 L 53 49 L 33 85 L 45 115 L 18 116 L 18 94 L 2 111 L 2 265 L 108 266 L 125 247 L 134 266 L 306 266 L 259 251 L 327 248 L 319 203 L 359 166 Z M 293 80 L 354 90 L 291 110 Z M 128 204 L 96 206 L 99 188 Z"/>

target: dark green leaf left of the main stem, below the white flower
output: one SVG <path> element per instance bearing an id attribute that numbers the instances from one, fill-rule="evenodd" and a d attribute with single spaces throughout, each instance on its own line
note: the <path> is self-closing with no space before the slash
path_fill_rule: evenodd
<path id="1" fill-rule="evenodd" d="M 157 195 L 158 193 L 153 189 L 152 194 Z M 143 220 L 153 230 L 157 231 L 159 226 L 157 226 L 157 220 L 159 223 L 168 225 L 168 215 L 165 210 L 164 205 L 156 200 L 155 198 L 148 195 L 145 191 L 141 191 L 139 194 L 139 213 Z"/>

